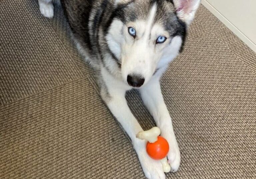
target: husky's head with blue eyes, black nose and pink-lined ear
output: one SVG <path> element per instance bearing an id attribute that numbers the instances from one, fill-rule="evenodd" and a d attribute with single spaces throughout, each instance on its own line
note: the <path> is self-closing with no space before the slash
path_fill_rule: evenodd
<path id="1" fill-rule="evenodd" d="M 199 4 L 200 0 L 116 0 L 107 43 L 127 84 L 142 86 L 179 54 Z"/>

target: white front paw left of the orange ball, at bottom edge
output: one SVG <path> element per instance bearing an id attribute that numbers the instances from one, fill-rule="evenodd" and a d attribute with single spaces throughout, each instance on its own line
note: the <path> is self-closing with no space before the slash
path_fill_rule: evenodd
<path id="1" fill-rule="evenodd" d="M 137 152 L 142 170 L 147 179 L 165 179 L 163 166 L 160 161 L 151 159 L 145 150 Z"/>

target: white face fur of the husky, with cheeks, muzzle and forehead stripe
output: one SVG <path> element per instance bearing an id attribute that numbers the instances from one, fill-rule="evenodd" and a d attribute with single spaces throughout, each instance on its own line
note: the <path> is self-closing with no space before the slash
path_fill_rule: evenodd
<path id="1" fill-rule="evenodd" d="M 121 59 L 121 75 L 125 83 L 128 75 L 138 75 L 145 78 L 146 84 L 156 69 L 168 65 L 179 53 L 181 37 L 170 37 L 163 25 L 154 23 L 156 12 L 155 3 L 146 21 L 123 24 L 115 19 L 110 27 L 107 42 L 111 51 Z M 129 27 L 136 30 L 135 39 L 128 33 Z M 159 36 L 165 36 L 167 40 L 156 44 Z"/>

